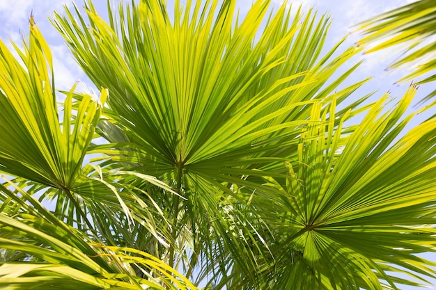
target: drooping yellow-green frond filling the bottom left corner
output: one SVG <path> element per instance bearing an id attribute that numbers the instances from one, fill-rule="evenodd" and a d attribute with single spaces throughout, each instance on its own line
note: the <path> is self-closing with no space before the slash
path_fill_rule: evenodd
<path id="1" fill-rule="evenodd" d="M 2 289 L 196 289 L 156 257 L 105 245 L 63 223 L 25 191 L 16 190 L 0 185 L 0 204 L 20 209 L 12 214 L 3 208 L 0 248 L 29 256 L 0 262 Z"/>

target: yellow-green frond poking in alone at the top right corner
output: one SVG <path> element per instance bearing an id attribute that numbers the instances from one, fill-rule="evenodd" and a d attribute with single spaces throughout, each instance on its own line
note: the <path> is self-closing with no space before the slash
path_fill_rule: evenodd
<path id="1" fill-rule="evenodd" d="M 436 2 L 433 0 L 419 0 L 394 10 L 382 13 L 358 24 L 359 30 L 365 35 L 359 40 L 360 45 L 378 42 L 368 49 L 367 53 L 399 47 L 403 54 L 389 69 L 414 65 L 414 70 L 407 74 L 400 82 L 412 81 L 423 75 L 420 83 L 436 80 Z M 423 45 L 424 44 L 424 45 Z M 436 90 L 425 99 L 436 95 Z M 425 100 L 424 99 L 424 100 Z"/>

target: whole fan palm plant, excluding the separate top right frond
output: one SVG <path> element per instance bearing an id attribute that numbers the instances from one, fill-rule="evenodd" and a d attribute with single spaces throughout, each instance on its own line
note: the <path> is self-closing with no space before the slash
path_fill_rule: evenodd
<path id="1" fill-rule="evenodd" d="M 38 27 L 15 47 L 22 63 L 1 43 L 2 287 L 396 289 L 417 284 L 398 273 L 434 277 L 416 254 L 435 251 L 436 120 L 401 133 L 425 110 L 405 115 L 413 86 L 388 110 L 388 95 L 355 96 L 366 79 L 338 90 L 360 49 L 322 55 L 325 15 L 269 6 L 239 17 L 232 0 L 176 1 L 170 17 L 161 1 L 120 2 L 109 23 L 91 1 L 86 17 L 66 8 L 54 26 L 102 90 L 63 92 L 63 111 Z"/>

